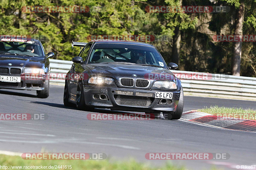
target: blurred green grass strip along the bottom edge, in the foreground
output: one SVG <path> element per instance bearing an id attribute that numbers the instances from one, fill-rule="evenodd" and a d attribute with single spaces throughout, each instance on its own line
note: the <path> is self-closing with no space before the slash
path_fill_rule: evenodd
<path id="1" fill-rule="evenodd" d="M 152 160 L 154 161 L 154 160 Z M 164 161 L 164 160 L 163 160 Z M 61 166 L 71 165 L 71 170 L 157 170 L 157 169 L 168 169 L 168 170 L 185 170 L 184 167 L 176 167 L 170 163 L 166 163 L 162 167 L 154 167 L 150 164 L 138 163 L 134 159 L 127 161 L 109 161 L 104 160 L 25 160 L 20 156 L 7 156 L 0 155 L 0 165 L 1 166 Z M 2 168 L 3 169 L 3 168 Z M 16 168 L 20 169 L 20 168 Z M 30 168 L 31 169 L 31 168 Z M 32 168 L 33 169 L 33 168 Z M 59 168 L 57 168 L 59 169 Z M 60 168 L 61 169 L 61 168 Z M 62 168 L 65 169 L 65 168 Z"/>

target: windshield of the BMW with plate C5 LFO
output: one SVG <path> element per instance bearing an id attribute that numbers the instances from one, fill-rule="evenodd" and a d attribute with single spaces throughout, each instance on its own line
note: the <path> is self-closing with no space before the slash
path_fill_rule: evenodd
<path id="1" fill-rule="evenodd" d="M 88 63 L 148 64 L 165 68 L 162 56 L 153 47 L 144 45 L 99 43 L 92 49 Z"/>

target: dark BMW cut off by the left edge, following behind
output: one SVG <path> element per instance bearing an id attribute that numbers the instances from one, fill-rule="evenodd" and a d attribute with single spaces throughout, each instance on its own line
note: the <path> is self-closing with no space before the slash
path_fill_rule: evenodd
<path id="1" fill-rule="evenodd" d="M 54 53 L 45 55 L 39 40 L 6 37 L 0 39 L 0 89 L 36 90 L 37 97 L 47 98 Z"/>

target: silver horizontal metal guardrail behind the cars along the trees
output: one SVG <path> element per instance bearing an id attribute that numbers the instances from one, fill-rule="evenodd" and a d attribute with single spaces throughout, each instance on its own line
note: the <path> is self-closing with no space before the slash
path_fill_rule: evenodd
<path id="1" fill-rule="evenodd" d="M 49 60 L 52 73 L 67 73 L 73 63 Z M 179 70 L 172 72 L 180 78 L 184 95 L 256 100 L 256 78 Z M 65 80 L 51 79 L 50 83 L 64 85 Z"/>

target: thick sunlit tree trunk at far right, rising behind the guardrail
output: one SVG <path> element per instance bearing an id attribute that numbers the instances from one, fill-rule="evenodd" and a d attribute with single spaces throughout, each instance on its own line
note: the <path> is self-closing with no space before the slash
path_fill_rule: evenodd
<path id="1" fill-rule="evenodd" d="M 243 35 L 243 22 L 244 22 L 244 2 L 241 3 L 236 13 L 234 35 Z M 232 70 L 234 76 L 240 76 L 242 55 L 242 42 L 234 42 L 233 56 L 232 56 Z"/>

